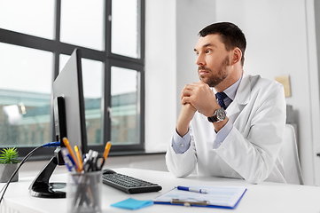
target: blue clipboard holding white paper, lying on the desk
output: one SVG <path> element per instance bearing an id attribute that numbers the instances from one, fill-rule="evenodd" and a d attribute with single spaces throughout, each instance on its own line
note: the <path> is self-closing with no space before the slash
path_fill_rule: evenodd
<path id="1" fill-rule="evenodd" d="M 234 209 L 246 193 L 246 187 L 244 186 L 192 187 L 206 189 L 208 193 L 194 193 L 173 188 L 152 201 L 154 204 Z"/>

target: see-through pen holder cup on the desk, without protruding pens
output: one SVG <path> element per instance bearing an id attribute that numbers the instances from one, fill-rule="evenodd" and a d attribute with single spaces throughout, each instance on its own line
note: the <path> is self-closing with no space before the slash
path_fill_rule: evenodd
<path id="1" fill-rule="evenodd" d="M 66 184 L 67 212 L 101 212 L 102 172 L 69 173 Z"/>

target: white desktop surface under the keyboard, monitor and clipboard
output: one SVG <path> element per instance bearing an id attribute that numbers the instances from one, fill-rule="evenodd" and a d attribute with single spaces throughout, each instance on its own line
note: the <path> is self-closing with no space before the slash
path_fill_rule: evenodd
<path id="1" fill-rule="evenodd" d="M 133 177 L 143 178 L 145 180 L 158 183 L 162 190 L 158 193 L 139 193 L 127 194 L 114 189 L 108 185 L 103 185 L 103 212 L 130 212 L 127 209 L 117 209 L 110 207 L 111 204 L 123 201 L 128 198 L 137 200 L 152 200 L 152 198 L 165 193 L 175 185 L 245 185 L 247 191 L 236 209 L 212 209 L 201 207 L 183 207 L 172 205 L 155 204 L 144 209 L 135 210 L 135 212 L 320 212 L 320 187 L 305 185 L 284 185 L 276 183 L 262 183 L 260 185 L 251 185 L 245 180 L 227 179 L 218 177 L 197 177 L 190 176 L 185 178 L 173 177 L 168 172 L 154 170 L 136 170 L 136 169 L 115 169 L 118 172 Z M 21 178 L 18 183 L 12 183 L 4 195 L 4 201 L 0 206 L 1 213 L 25 213 L 25 212 L 48 212 L 63 213 L 66 212 L 66 199 L 42 199 L 32 197 L 28 193 L 28 186 L 33 177 Z M 53 175 L 51 182 L 66 180 L 66 175 Z M 4 184 L 0 186 L 3 187 Z M 11 210 L 10 210 L 11 209 Z M 15 209 L 13 211 L 12 209 Z"/>

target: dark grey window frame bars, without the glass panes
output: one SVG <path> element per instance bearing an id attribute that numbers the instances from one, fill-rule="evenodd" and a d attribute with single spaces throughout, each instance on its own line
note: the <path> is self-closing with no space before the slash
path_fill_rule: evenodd
<path id="1" fill-rule="evenodd" d="M 97 51 L 90 48 L 82 47 L 79 45 L 74 45 L 70 43 L 60 42 L 60 22 L 61 22 L 61 0 L 55 1 L 55 36 L 54 38 L 47 39 L 38 36 L 30 36 L 27 34 L 7 30 L 0 28 L 0 43 L 9 43 L 13 45 L 18 45 L 22 47 L 32 48 L 41 51 L 51 51 L 53 53 L 53 72 L 52 79 L 56 79 L 59 75 L 59 56 L 60 54 L 71 55 L 75 48 L 81 49 L 83 59 L 92 59 L 96 61 L 101 61 L 104 63 L 104 83 L 103 92 L 101 98 L 101 138 L 103 144 L 100 146 L 89 146 L 90 149 L 94 149 L 103 152 L 105 148 L 105 143 L 111 140 L 111 119 L 110 110 L 111 107 L 111 67 L 121 67 L 136 70 L 138 73 L 138 102 L 137 105 L 140 106 L 137 110 L 139 114 L 139 132 L 137 145 L 117 145 L 113 146 L 110 150 L 111 155 L 125 155 L 125 154 L 137 154 L 144 153 L 144 18 L 145 18 L 145 0 L 138 1 L 138 30 L 140 50 L 138 59 L 129 58 L 127 56 L 122 56 L 114 54 L 111 51 L 111 26 L 112 26 L 112 0 L 105 0 L 105 23 L 104 23 L 104 38 L 105 38 L 105 50 Z M 52 97 L 52 92 L 51 92 Z M 53 110 L 52 110 L 51 99 L 51 139 L 55 140 L 55 130 L 53 124 Z M 48 141 L 49 142 L 49 141 Z M 46 142 L 43 142 L 45 144 Z M 35 146 L 27 147 L 17 147 L 20 157 L 27 155 Z M 35 152 L 30 158 L 31 160 L 41 160 L 49 159 L 53 155 L 55 148 L 45 148 L 41 152 Z"/>

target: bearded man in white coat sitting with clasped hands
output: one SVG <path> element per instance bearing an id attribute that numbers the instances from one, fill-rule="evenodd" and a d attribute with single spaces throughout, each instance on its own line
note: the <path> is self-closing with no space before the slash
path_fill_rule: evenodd
<path id="1" fill-rule="evenodd" d="M 246 37 L 236 25 L 215 23 L 199 36 L 200 81 L 183 88 L 168 170 L 176 177 L 197 170 L 254 184 L 286 183 L 278 159 L 285 130 L 282 85 L 243 72 Z"/>

